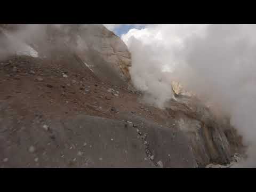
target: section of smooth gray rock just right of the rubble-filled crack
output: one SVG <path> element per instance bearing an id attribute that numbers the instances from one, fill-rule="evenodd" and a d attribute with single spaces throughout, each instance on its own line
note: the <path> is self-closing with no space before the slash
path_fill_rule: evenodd
<path id="1" fill-rule="evenodd" d="M 161 127 L 138 115 L 120 114 L 120 118 L 133 122 L 140 138 L 144 141 L 148 158 L 156 166 L 157 162 L 161 161 L 165 168 L 197 167 L 191 144 L 182 131 Z"/>

